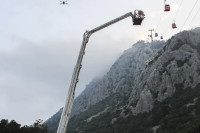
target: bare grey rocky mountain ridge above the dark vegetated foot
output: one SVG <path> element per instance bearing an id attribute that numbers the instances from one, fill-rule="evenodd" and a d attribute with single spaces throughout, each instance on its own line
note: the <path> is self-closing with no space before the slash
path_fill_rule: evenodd
<path id="1" fill-rule="evenodd" d="M 200 28 L 196 28 L 178 33 L 166 43 L 138 41 L 124 51 L 103 78 L 95 79 L 75 99 L 68 132 L 87 131 L 89 127 L 84 125 L 96 119 L 115 125 L 121 119 L 151 112 L 156 102 L 173 96 L 180 88 L 195 88 L 200 83 L 199 36 Z M 46 122 L 54 124 L 54 131 L 59 115 L 61 110 Z"/>

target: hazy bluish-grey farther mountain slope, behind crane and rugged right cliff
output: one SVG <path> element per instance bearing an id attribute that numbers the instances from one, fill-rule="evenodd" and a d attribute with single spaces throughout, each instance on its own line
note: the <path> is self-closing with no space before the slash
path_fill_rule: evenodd
<path id="1" fill-rule="evenodd" d="M 75 99 L 71 117 L 87 111 L 92 105 L 104 99 L 110 99 L 111 101 L 108 102 L 110 105 L 121 106 L 125 102 L 127 103 L 132 90 L 131 87 L 145 68 L 145 61 L 163 45 L 164 41 L 154 42 L 153 44 L 139 41 L 132 48 L 124 51 L 104 77 L 94 79 Z M 113 96 L 114 98 L 111 98 Z M 106 106 L 102 105 L 98 111 Z M 61 111 L 46 121 L 50 130 L 55 130 L 58 126 Z"/>

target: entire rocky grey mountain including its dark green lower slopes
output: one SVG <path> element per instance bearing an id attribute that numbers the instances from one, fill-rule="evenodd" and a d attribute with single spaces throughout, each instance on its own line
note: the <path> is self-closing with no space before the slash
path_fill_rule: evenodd
<path id="1" fill-rule="evenodd" d="M 199 103 L 199 87 L 200 28 L 183 31 L 166 43 L 139 41 L 75 99 L 67 132 L 163 133 L 167 115 Z M 183 98 L 180 106 L 173 106 L 174 99 L 182 97 L 188 101 Z M 187 113 L 200 116 L 195 107 Z M 46 121 L 50 131 L 56 130 L 60 115 L 61 110 Z"/>

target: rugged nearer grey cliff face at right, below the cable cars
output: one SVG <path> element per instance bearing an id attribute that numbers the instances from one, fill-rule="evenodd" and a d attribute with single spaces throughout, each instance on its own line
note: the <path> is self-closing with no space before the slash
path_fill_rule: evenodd
<path id="1" fill-rule="evenodd" d="M 133 86 L 128 108 L 134 115 L 149 111 L 155 101 L 172 96 L 177 88 L 200 83 L 200 30 L 184 31 L 169 39 L 147 61 Z"/>

